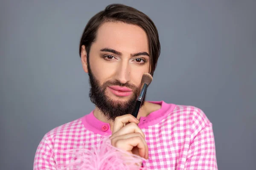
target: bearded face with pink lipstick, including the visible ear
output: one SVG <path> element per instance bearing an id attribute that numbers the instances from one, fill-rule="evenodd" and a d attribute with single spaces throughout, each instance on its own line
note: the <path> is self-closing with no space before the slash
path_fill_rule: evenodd
<path id="1" fill-rule="evenodd" d="M 84 57 L 82 62 L 90 77 L 90 99 L 96 107 L 111 120 L 131 113 L 143 73 L 149 72 L 145 31 L 121 22 L 104 23 L 91 45 L 89 62 Z"/>

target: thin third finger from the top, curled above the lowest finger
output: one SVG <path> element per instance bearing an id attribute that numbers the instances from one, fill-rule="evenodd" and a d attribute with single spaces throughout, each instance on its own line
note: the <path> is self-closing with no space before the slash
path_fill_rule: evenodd
<path id="1" fill-rule="evenodd" d="M 145 138 L 141 135 L 141 133 L 128 133 L 128 134 L 125 134 L 125 135 L 122 135 L 122 136 L 116 136 L 115 138 L 113 138 L 111 140 L 111 144 L 113 146 L 116 145 L 116 142 L 120 139 L 129 139 L 129 138 L 132 138 L 132 137 L 136 137 L 136 136 L 139 136 L 141 139 L 142 139 L 142 142 L 143 144 L 146 146 L 145 147 L 145 155 L 143 157 L 145 157 L 146 159 L 148 159 L 148 144 L 147 142 L 145 141 Z"/>

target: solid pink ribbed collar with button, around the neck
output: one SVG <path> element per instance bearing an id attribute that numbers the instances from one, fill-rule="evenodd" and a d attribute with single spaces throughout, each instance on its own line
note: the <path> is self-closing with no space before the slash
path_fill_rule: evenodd
<path id="1" fill-rule="evenodd" d="M 175 108 L 175 104 L 167 104 L 163 101 L 155 102 L 155 101 L 148 101 L 151 103 L 159 104 L 161 105 L 161 108 L 157 111 L 154 111 L 150 113 L 146 117 L 140 117 L 140 123 L 138 126 L 140 128 L 145 128 L 151 125 L 155 125 L 161 120 L 163 120 L 169 113 L 173 111 Z M 93 111 L 91 111 L 89 114 L 82 117 L 82 123 L 84 127 L 88 130 L 93 131 L 94 133 L 98 133 L 100 135 L 111 135 L 111 129 L 109 123 L 102 122 L 99 119 L 97 119 Z"/>

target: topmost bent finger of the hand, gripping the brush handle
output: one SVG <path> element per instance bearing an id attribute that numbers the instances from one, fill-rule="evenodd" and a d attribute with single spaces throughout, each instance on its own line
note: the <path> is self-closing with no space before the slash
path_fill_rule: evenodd
<path id="1" fill-rule="evenodd" d="M 134 123 L 139 123 L 140 121 L 136 119 L 134 116 L 131 114 L 125 114 L 122 116 L 117 116 L 114 120 L 114 125 L 113 125 L 113 131 L 112 134 L 124 127 L 125 123 L 129 122 L 134 122 Z"/>

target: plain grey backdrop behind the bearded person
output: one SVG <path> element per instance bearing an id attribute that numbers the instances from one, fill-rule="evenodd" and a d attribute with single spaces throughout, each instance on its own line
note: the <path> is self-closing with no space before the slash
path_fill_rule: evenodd
<path id="1" fill-rule="evenodd" d="M 255 169 L 253 0 L 1 0 L 0 169 L 32 169 L 45 133 L 93 110 L 79 39 L 90 17 L 115 2 L 148 14 L 160 34 L 147 99 L 201 108 L 219 169 Z"/>

